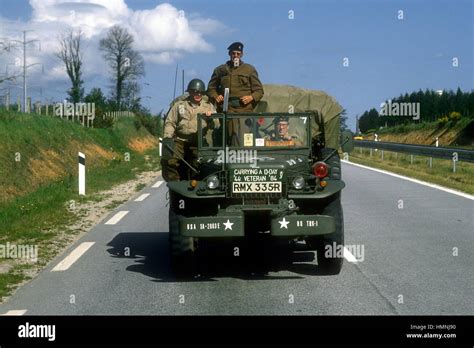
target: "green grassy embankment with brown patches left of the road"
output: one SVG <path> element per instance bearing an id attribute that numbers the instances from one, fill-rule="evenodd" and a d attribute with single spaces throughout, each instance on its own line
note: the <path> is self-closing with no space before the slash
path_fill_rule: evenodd
<path id="1" fill-rule="evenodd" d="M 159 168 L 157 139 L 139 125 L 124 118 L 94 129 L 0 110 L 0 245 L 39 250 L 36 264 L 0 258 L 0 299 L 28 277 L 28 269 L 57 254 L 59 235 L 76 233 L 67 228 L 77 220 L 71 201 L 100 200 L 99 191 Z M 86 196 L 78 195 L 79 151 L 86 155 Z"/>

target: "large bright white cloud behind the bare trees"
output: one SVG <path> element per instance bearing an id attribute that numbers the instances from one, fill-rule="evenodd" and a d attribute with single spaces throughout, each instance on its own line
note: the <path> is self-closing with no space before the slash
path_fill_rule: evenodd
<path id="1" fill-rule="evenodd" d="M 115 24 L 127 28 L 135 38 L 135 49 L 146 62 L 170 64 L 180 57 L 196 52 L 212 52 L 214 48 L 205 40 L 225 30 L 226 26 L 214 19 L 187 15 L 170 4 L 155 8 L 133 10 L 124 0 L 30 0 L 31 19 L 28 22 L 12 21 L 0 17 L 0 37 L 22 37 L 16 30 L 33 29 L 28 39 L 41 41 L 41 52 L 33 45 L 28 50 L 28 64 L 41 61 L 45 65 L 45 80 L 67 80 L 64 66 L 54 57 L 58 38 L 69 29 L 80 28 L 84 33 L 84 77 L 105 75 L 106 63 L 99 51 L 99 40 Z M 3 29 L 2 29 L 3 28 Z M 15 32 L 16 31 L 16 32 Z M 0 65 L 14 60 L 21 50 L 0 56 Z M 31 69 L 34 75 L 36 70 Z"/>

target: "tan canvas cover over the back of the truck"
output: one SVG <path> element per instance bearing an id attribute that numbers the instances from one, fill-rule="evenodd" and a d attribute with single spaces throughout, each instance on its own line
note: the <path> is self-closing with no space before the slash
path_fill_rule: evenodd
<path id="1" fill-rule="evenodd" d="M 342 107 L 323 91 L 303 89 L 288 85 L 263 85 L 264 96 L 257 104 L 256 112 L 317 112 L 322 115 L 326 147 L 339 147 L 339 130 Z M 316 120 L 311 121 L 311 135 L 314 139 L 322 133 Z"/>

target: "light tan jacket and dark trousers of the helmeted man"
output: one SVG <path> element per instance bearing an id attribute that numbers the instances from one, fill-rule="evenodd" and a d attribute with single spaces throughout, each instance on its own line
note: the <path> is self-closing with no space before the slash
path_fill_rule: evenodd
<path id="1" fill-rule="evenodd" d="M 163 138 L 173 138 L 174 151 L 193 167 L 197 164 L 197 115 L 206 111 L 215 113 L 214 105 L 204 100 L 199 105 L 188 99 L 178 100 L 168 111 L 165 120 Z M 161 167 L 166 181 L 186 178 L 188 167 L 181 163 L 176 154 L 163 156 Z"/>

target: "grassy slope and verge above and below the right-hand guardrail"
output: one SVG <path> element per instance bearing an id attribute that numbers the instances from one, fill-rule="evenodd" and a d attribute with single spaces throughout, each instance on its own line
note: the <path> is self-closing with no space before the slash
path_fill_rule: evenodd
<path id="1" fill-rule="evenodd" d="M 378 132 L 381 141 L 433 145 L 436 137 L 439 146 L 460 147 L 474 149 L 472 141 L 474 122 L 462 119 L 455 125 L 440 127 L 436 122 L 427 124 L 403 125 Z M 364 136 L 364 139 L 373 139 L 373 135 Z M 369 149 L 356 148 L 350 154 L 350 161 L 374 168 L 388 170 L 408 177 L 449 187 L 455 190 L 474 194 L 474 163 L 457 162 L 456 173 L 453 173 L 453 163 L 450 160 L 433 158 L 432 168 L 429 167 L 429 158 L 414 156 L 413 164 L 409 154 L 396 154 Z"/>

